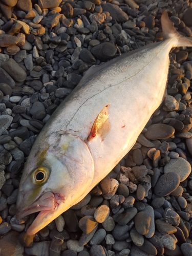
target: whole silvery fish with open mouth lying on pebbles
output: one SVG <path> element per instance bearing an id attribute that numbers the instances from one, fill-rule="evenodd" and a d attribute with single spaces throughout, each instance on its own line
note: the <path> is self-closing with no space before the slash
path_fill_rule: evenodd
<path id="1" fill-rule="evenodd" d="M 92 66 L 35 140 L 16 218 L 39 212 L 30 235 L 81 201 L 131 150 L 166 91 L 169 52 L 192 46 L 162 13 L 163 40 Z"/>

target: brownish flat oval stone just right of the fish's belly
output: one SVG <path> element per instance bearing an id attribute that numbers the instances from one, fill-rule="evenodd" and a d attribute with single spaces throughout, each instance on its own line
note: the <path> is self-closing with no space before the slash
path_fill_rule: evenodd
<path id="1" fill-rule="evenodd" d="M 144 135 L 147 139 L 158 140 L 170 138 L 174 133 L 174 127 L 164 123 L 155 123 L 147 127 L 147 132 Z"/>

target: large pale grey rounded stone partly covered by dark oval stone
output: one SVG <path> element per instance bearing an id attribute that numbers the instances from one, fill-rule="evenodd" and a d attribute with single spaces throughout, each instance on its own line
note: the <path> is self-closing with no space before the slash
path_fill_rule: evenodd
<path id="1" fill-rule="evenodd" d="M 178 174 L 182 182 L 191 173 L 191 165 L 182 157 L 170 159 L 170 161 L 164 166 L 164 174 L 170 172 Z"/>

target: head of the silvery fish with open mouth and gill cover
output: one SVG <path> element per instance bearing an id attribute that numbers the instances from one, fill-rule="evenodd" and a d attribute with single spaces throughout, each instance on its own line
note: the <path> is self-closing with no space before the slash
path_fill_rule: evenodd
<path id="1" fill-rule="evenodd" d="M 93 180 L 94 162 L 78 136 L 37 138 L 27 159 L 17 197 L 17 219 L 40 211 L 28 234 L 34 234 L 78 203 Z M 88 193 L 89 191 L 87 191 Z"/>

